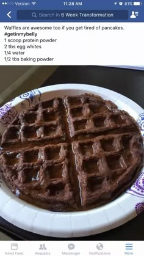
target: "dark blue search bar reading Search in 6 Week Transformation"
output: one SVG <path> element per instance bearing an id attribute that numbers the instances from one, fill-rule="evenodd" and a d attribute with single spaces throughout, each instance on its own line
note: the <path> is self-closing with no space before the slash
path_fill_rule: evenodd
<path id="1" fill-rule="evenodd" d="M 17 10 L 17 20 L 128 20 L 128 10 Z"/>

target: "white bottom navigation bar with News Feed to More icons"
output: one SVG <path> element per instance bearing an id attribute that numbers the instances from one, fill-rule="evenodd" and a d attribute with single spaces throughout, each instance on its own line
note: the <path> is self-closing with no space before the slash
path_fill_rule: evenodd
<path id="1" fill-rule="evenodd" d="M 140 256 L 143 241 L 0 241 L 4 255 Z"/>

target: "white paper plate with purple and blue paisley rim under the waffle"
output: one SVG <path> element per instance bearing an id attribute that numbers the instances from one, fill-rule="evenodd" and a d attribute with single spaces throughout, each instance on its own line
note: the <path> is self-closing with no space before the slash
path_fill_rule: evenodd
<path id="1" fill-rule="evenodd" d="M 129 112 L 141 126 L 144 136 L 144 111 L 140 106 L 112 90 L 87 84 L 58 84 L 35 89 L 16 97 L 0 108 L 0 133 L 4 132 L 18 112 L 28 109 L 34 103 L 52 97 L 79 95 L 85 92 L 96 93 L 104 99 L 112 100 L 119 109 Z M 128 222 L 143 210 L 144 167 L 134 185 L 118 199 L 93 210 L 77 213 L 54 213 L 43 210 L 18 199 L 3 181 L 0 188 L 0 215 L 2 218 L 21 229 L 45 236 L 62 238 L 94 235 Z"/>

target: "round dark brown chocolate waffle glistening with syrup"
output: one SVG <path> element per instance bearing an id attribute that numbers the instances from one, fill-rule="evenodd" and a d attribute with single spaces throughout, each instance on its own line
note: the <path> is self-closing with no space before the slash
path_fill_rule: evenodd
<path id="1" fill-rule="evenodd" d="M 112 101 L 53 98 L 18 114 L 1 137 L 2 177 L 18 197 L 52 211 L 103 205 L 142 166 L 139 126 Z"/>

